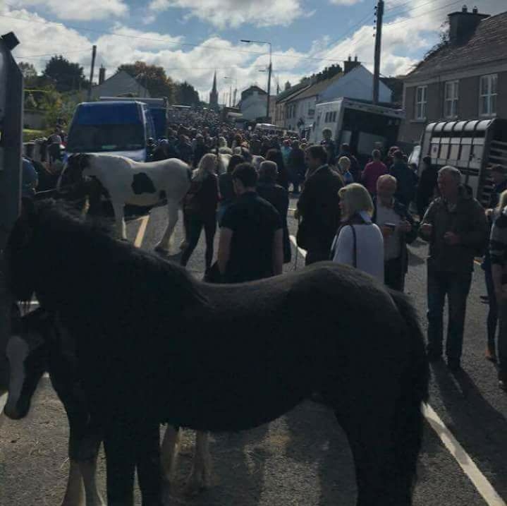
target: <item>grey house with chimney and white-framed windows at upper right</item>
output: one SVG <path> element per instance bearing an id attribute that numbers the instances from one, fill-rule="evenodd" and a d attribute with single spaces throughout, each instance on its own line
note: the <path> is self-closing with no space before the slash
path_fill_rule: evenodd
<path id="1" fill-rule="evenodd" d="M 400 140 L 418 142 L 432 121 L 507 118 L 507 12 L 448 15 L 448 42 L 405 77 Z"/>

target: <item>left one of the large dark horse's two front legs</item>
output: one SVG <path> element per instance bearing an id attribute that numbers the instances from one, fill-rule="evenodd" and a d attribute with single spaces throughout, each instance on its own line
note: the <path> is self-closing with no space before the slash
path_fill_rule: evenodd
<path id="1" fill-rule="evenodd" d="M 107 505 L 133 506 L 135 438 L 133 423 L 127 418 L 111 423 L 104 438 L 107 469 Z"/>

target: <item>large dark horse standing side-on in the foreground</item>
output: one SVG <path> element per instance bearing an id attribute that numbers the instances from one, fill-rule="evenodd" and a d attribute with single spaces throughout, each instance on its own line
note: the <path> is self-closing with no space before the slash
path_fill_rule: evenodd
<path id="1" fill-rule="evenodd" d="M 403 295 L 331 263 L 204 284 L 52 201 L 25 208 L 6 254 L 13 295 L 35 292 L 75 339 L 109 505 L 132 504 L 136 455 L 157 454 L 159 421 L 244 430 L 315 391 L 348 435 L 358 505 L 411 504 L 429 368 Z M 159 505 L 159 462 L 149 478 L 143 504 Z"/>

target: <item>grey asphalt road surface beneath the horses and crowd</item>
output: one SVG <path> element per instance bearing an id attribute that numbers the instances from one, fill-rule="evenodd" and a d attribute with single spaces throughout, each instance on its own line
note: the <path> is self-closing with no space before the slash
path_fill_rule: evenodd
<path id="1" fill-rule="evenodd" d="M 295 207 L 294 200 L 291 207 Z M 166 212 L 154 210 L 149 221 L 128 224 L 129 239 L 152 249 L 165 224 Z M 294 219 L 289 219 L 289 226 L 294 235 Z M 181 237 L 180 220 L 173 253 L 178 251 Z M 426 253 L 422 242 L 410 246 L 407 278 L 408 294 L 420 311 L 424 327 Z M 293 260 L 294 256 L 293 247 Z M 171 256 L 172 260 L 178 258 Z M 299 255 L 297 268 L 303 265 Z M 285 270 L 294 267 L 293 262 Z M 202 277 L 203 237 L 188 268 Z M 432 425 L 425 423 L 416 506 L 503 506 L 507 502 L 507 395 L 497 387 L 494 366 L 484 360 L 487 306 L 479 299 L 484 293 L 482 271 L 477 266 L 469 299 L 463 372 L 452 375 L 443 363 L 432 366 L 430 405 L 437 418 Z M 39 386 L 28 418 L 13 422 L 0 416 L 1 506 L 59 505 L 68 471 L 67 436 L 66 417 L 47 379 Z M 305 402 L 257 430 L 214 435 L 214 483 L 197 498 L 183 494 L 192 450 L 193 433 L 188 431 L 172 493 L 175 505 L 355 505 L 348 443 L 331 411 L 319 404 Z M 101 454 L 102 490 L 104 478 Z M 140 505 L 138 497 L 136 500 Z"/>

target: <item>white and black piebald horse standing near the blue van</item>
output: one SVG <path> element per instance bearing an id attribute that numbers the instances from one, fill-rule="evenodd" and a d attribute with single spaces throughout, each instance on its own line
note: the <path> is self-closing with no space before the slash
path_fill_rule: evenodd
<path id="1" fill-rule="evenodd" d="M 169 222 L 157 244 L 169 250 L 169 240 L 178 222 L 178 209 L 190 188 L 190 168 L 179 159 L 140 163 L 114 155 L 71 155 L 62 172 L 59 186 L 78 183 L 91 176 L 102 185 L 111 199 L 118 236 L 126 239 L 123 208 L 126 204 L 152 207 L 166 198 Z"/>

